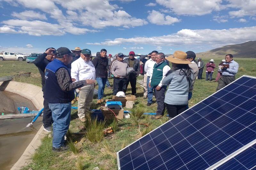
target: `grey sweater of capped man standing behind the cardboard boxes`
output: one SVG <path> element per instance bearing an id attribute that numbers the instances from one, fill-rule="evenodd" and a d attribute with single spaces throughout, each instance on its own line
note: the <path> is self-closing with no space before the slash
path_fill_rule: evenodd
<path id="1" fill-rule="evenodd" d="M 115 60 L 112 63 L 111 66 L 111 73 L 116 77 L 119 76 L 120 78 L 125 78 L 127 76 L 127 69 L 128 64 L 126 61 L 119 61 L 119 60 Z"/>

